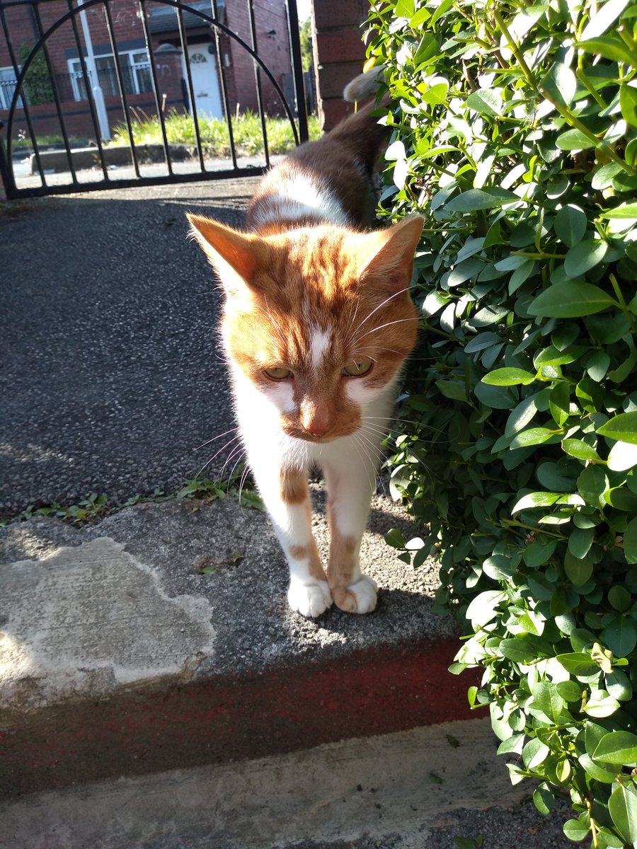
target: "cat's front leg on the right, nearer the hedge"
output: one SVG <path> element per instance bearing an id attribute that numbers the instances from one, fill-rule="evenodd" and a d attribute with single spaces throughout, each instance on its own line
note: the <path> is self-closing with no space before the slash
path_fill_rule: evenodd
<path id="1" fill-rule="evenodd" d="M 376 459 L 350 448 L 324 465 L 330 522 L 327 577 L 332 599 L 348 613 L 370 613 L 376 606 L 376 584 L 359 565 L 369 503 L 375 486 Z"/>

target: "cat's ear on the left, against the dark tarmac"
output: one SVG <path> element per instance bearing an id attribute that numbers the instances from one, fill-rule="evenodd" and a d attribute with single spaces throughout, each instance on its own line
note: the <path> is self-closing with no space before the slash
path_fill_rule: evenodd
<path id="1" fill-rule="evenodd" d="M 268 246 L 251 233 L 240 233 L 218 221 L 204 216 L 186 214 L 190 235 L 199 242 L 218 274 L 223 287 L 256 287 L 257 271 L 268 267 Z"/>

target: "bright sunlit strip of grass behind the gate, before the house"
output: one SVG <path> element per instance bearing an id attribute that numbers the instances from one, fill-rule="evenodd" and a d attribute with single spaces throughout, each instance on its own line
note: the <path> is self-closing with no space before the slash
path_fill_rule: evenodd
<path id="1" fill-rule="evenodd" d="M 247 111 L 231 119 L 234 146 L 240 156 L 254 156 L 263 151 L 261 120 L 254 112 Z M 195 145 L 197 142 L 194 132 L 194 121 L 190 115 L 172 110 L 166 115 L 166 138 L 170 144 Z M 222 118 L 207 118 L 202 115 L 199 119 L 201 146 L 204 155 L 225 159 L 230 155 L 230 137 L 228 125 Z M 318 118 L 310 115 L 308 131 L 311 139 L 320 136 Z M 285 154 L 295 146 L 294 134 L 287 118 L 266 118 L 266 135 L 270 154 Z M 132 121 L 132 138 L 135 144 L 161 144 L 161 123 L 158 118 L 138 115 Z M 128 144 L 128 128 L 120 124 L 113 130 L 110 146 Z"/>

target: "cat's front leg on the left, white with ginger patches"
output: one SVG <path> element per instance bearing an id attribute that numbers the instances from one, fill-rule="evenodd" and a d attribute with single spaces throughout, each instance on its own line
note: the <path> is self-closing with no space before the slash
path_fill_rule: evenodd
<path id="1" fill-rule="evenodd" d="M 257 486 L 290 567 L 288 602 L 302 616 L 320 616 L 332 604 L 312 535 L 312 504 L 305 470 L 280 468 Z"/>

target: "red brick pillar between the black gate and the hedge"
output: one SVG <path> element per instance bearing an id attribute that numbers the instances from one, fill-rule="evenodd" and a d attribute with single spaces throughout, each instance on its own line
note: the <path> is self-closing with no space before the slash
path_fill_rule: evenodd
<path id="1" fill-rule="evenodd" d="M 343 88 L 363 70 L 361 25 L 368 12 L 369 0 L 313 0 L 314 68 L 323 132 L 353 111 L 352 104 L 343 101 Z"/>

